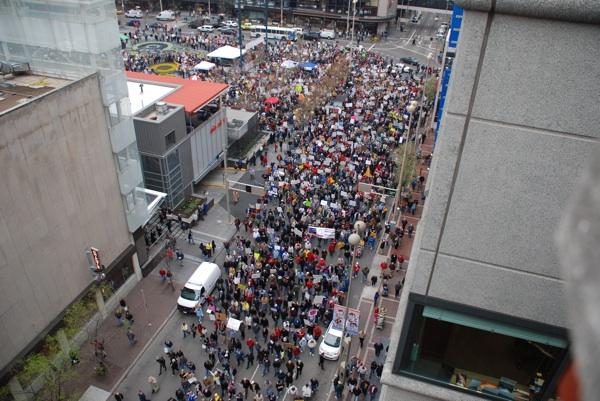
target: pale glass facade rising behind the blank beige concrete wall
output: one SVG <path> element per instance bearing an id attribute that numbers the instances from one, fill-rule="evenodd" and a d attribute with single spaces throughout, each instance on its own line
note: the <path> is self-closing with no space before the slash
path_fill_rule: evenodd
<path id="1" fill-rule="evenodd" d="M 144 224 L 148 203 L 141 188 L 115 3 L 0 0 L 0 60 L 27 62 L 35 72 L 70 79 L 99 73 L 129 231 Z"/>

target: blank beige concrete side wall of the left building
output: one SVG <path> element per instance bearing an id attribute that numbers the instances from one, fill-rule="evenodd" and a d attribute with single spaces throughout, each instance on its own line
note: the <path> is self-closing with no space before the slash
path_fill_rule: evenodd
<path id="1" fill-rule="evenodd" d="M 65 82 L 0 114 L 0 367 L 94 280 L 90 246 L 132 269 L 99 77 Z"/>

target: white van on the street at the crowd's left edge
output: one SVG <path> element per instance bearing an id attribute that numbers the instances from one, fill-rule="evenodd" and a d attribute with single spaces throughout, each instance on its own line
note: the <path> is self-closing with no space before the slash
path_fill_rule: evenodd
<path id="1" fill-rule="evenodd" d="M 217 285 L 221 269 L 210 262 L 202 262 L 181 289 L 177 308 L 183 313 L 194 313 L 196 305 L 202 305 Z"/>

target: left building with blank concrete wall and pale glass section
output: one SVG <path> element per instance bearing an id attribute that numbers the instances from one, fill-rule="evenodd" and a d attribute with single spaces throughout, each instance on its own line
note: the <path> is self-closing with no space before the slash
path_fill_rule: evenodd
<path id="1" fill-rule="evenodd" d="M 90 267 L 115 286 L 139 267 L 163 194 L 143 188 L 114 2 L 1 2 L 0 61 L 4 371 L 90 286 Z"/>

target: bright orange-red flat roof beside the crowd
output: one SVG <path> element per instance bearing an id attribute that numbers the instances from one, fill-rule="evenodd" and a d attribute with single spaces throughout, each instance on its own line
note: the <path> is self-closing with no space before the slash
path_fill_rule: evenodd
<path id="1" fill-rule="evenodd" d="M 207 105 L 211 100 L 219 96 L 229 87 L 227 84 L 223 83 L 192 81 L 190 79 L 176 78 L 166 75 L 145 74 L 143 72 L 126 71 L 126 75 L 127 79 L 131 81 L 144 83 L 154 82 L 157 85 L 164 84 L 165 86 L 170 85 L 171 90 L 173 89 L 173 86 L 175 86 L 176 89 L 172 93 L 166 95 L 160 100 L 167 103 L 182 105 L 185 111 L 188 113 Z M 145 91 L 146 85 L 144 84 L 144 92 Z"/>

